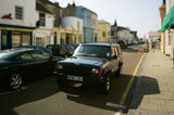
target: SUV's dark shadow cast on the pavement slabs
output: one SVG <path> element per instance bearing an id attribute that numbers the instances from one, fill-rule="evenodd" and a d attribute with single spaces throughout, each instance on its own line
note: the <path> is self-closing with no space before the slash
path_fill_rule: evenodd
<path id="1" fill-rule="evenodd" d="M 141 100 L 144 99 L 144 95 L 159 93 L 160 89 L 157 79 L 147 76 L 140 76 L 134 91 L 130 108 L 138 108 L 138 106 L 141 103 Z"/>

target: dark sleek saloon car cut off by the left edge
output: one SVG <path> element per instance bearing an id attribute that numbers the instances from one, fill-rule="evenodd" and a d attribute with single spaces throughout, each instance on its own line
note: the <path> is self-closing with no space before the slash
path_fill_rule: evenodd
<path id="1" fill-rule="evenodd" d="M 0 81 L 18 89 L 24 81 L 52 75 L 62 58 L 51 56 L 36 49 L 17 48 L 0 51 Z"/>

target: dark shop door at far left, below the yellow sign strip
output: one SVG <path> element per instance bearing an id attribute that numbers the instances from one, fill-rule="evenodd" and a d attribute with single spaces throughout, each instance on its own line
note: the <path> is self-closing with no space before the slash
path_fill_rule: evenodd
<path id="1" fill-rule="evenodd" d="M 2 30 L 1 33 L 1 49 L 11 49 L 12 48 L 12 31 Z"/>

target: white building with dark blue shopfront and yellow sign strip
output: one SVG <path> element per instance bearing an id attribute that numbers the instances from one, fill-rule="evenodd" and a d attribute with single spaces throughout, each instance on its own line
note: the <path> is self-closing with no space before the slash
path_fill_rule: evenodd
<path id="1" fill-rule="evenodd" d="M 36 0 L 1 0 L 0 50 L 33 42 Z"/>

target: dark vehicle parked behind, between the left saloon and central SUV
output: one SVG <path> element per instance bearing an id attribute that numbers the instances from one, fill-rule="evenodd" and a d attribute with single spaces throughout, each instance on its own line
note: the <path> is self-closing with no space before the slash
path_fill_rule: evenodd
<path id="1" fill-rule="evenodd" d="M 51 50 L 52 55 L 67 58 L 74 52 L 74 49 L 70 44 L 48 44 L 46 49 Z"/>

